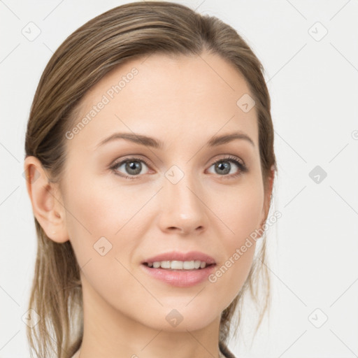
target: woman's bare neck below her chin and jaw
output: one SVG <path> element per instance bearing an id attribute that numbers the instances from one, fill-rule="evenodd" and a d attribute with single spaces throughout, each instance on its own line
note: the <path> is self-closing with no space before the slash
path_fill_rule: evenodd
<path id="1" fill-rule="evenodd" d="M 84 281 L 84 329 L 79 358 L 164 358 L 169 354 L 171 358 L 222 357 L 220 317 L 201 329 L 185 326 L 185 320 L 175 328 L 151 327 L 103 303 L 94 292 L 86 294 L 91 288 Z"/>

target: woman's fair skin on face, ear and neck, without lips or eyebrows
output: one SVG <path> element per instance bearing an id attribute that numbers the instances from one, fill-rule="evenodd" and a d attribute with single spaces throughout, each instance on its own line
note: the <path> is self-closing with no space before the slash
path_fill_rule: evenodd
<path id="1" fill-rule="evenodd" d="M 65 139 L 61 187 L 48 182 L 38 159 L 25 159 L 24 168 L 38 172 L 27 184 L 34 215 L 51 240 L 71 241 L 82 268 L 85 328 L 78 357 L 219 357 L 220 314 L 248 276 L 255 243 L 216 282 L 194 287 L 156 280 L 141 262 L 171 250 L 198 250 L 220 267 L 262 226 L 271 189 L 264 192 L 256 109 L 244 113 L 236 105 L 250 90 L 221 57 L 154 54 L 102 78 L 83 98 L 76 123 L 134 67 L 133 80 Z M 117 131 L 158 138 L 164 149 L 124 139 L 96 148 Z M 234 140 L 206 147 L 212 136 L 234 131 L 254 145 Z M 135 180 L 109 169 L 129 155 L 149 164 L 141 162 Z M 213 164 L 227 162 L 227 155 L 243 160 L 248 171 L 232 177 L 240 172 L 232 162 L 229 174 L 215 171 Z M 165 176 L 173 165 L 184 173 L 176 184 Z M 125 165 L 116 169 L 133 176 Z M 112 245 L 104 256 L 93 247 L 102 236 Z M 176 327 L 166 321 L 173 308 L 183 317 Z"/>

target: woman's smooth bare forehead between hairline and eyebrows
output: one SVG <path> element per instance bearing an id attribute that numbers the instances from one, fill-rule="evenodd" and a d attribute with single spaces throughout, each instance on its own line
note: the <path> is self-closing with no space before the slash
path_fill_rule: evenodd
<path id="1" fill-rule="evenodd" d="M 241 73 L 218 55 L 152 54 L 117 66 L 85 94 L 74 127 L 85 125 L 68 144 L 94 150 L 120 131 L 184 145 L 185 138 L 236 130 L 257 143 L 256 108 L 241 107 L 246 96 Z"/>

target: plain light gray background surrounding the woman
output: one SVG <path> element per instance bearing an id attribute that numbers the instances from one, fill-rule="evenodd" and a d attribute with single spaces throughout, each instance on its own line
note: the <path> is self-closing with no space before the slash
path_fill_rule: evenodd
<path id="1" fill-rule="evenodd" d="M 0 358 L 29 357 L 22 315 L 36 236 L 22 173 L 38 80 L 66 36 L 126 2 L 0 1 Z M 282 213 L 268 230 L 273 306 L 252 346 L 248 308 L 231 350 L 358 357 L 358 1 L 180 3 L 237 29 L 262 61 L 271 92 L 280 172 L 274 209 Z M 29 22 L 41 29 L 34 41 L 22 34 Z M 315 166 L 327 173 L 318 183 L 309 175 Z"/>

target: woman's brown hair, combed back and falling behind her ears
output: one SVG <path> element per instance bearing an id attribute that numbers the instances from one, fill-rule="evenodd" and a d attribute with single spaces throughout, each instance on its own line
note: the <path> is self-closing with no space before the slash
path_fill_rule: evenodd
<path id="1" fill-rule="evenodd" d="M 277 167 L 271 100 L 262 64 L 228 24 L 166 1 L 118 6 L 94 17 L 66 38 L 52 55 L 38 84 L 27 124 L 25 156 L 37 157 L 49 173 L 49 180 L 60 184 L 66 159 L 65 134 L 73 127 L 80 101 L 90 87 L 127 60 L 152 52 L 200 55 L 204 50 L 227 59 L 248 83 L 256 102 L 262 178 L 265 190 L 268 189 L 271 167 L 275 171 Z M 36 217 L 34 220 L 38 247 L 29 308 L 36 310 L 41 320 L 33 328 L 27 327 L 27 337 L 37 357 L 50 357 L 50 352 L 55 351 L 56 357 L 69 358 L 80 348 L 83 338 L 80 267 L 70 241 L 55 243 L 46 236 Z M 229 339 L 230 322 L 238 306 L 241 312 L 244 292 L 250 290 L 261 310 L 257 328 L 268 307 L 266 237 L 262 240 L 241 291 L 222 312 L 220 344 Z M 259 302 L 257 294 L 260 274 L 263 302 Z M 239 322 L 240 315 L 236 329 Z"/>

